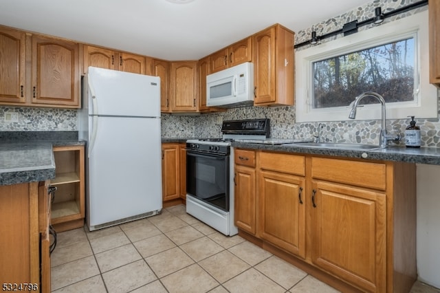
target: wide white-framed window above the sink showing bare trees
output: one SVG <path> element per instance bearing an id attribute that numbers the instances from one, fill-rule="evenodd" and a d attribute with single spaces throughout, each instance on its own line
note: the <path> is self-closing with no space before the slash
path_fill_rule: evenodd
<path id="1" fill-rule="evenodd" d="M 388 119 L 437 118 L 429 84 L 427 11 L 296 52 L 296 122 L 348 120 L 364 91 L 386 100 Z M 380 119 L 365 98 L 357 118 Z"/>

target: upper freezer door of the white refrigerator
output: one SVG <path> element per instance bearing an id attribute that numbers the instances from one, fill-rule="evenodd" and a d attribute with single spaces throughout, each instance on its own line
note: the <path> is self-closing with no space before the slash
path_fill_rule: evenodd
<path id="1" fill-rule="evenodd" d="M 160 78 L 89 67 L 89 115 L 160 117 Z"/>

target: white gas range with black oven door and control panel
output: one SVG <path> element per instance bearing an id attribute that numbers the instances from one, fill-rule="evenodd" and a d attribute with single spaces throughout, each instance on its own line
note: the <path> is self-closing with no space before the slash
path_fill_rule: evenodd
<path id="1" fill-rule="evenodd" d="M 279 144 L 270 139 L 270 120 L 230 120 L 222 138 L 186 141 L 186 212 L 224 235 L 236 235 L 234 225 L 234 141 Z"/>

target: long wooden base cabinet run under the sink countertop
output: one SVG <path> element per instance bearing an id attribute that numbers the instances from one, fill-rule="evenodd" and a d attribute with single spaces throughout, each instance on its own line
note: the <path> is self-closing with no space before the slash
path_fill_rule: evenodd
<path id="1" fill-rule="evenodd" d="M 245 149 L 235 158 L 250 151 L 254 167 L 235 162 L 239 235 L 342 292 L 410 291 L 415 164 Z"/>

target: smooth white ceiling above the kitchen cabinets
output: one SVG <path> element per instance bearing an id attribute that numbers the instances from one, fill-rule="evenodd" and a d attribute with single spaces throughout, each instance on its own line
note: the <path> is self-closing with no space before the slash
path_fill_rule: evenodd
<path id="1" fill-rule="evenodd" d="M 169 61 L 197 60 L 274 23 L 298 32 L 368 0 L 0 0 L 0 25 Z"/>

